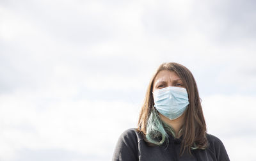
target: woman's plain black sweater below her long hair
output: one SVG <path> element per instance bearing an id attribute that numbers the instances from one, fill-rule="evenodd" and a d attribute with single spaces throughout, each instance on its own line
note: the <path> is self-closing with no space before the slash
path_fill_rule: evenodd
<path id="1" fill-rule="evenodd" d="M 169 144 L 149 146 L 143 135 L 136 128 L 126 130 L 118 139 L 112 160 L 168 160 L 168 161 L 228 161 L 227 151 L 223 143 L 214 135 L 207 134 L 209 146 L 205 150 L 191 150 L 192 155 L 184 153 L 180 156 L 180 139 L 169 135 Z"/>

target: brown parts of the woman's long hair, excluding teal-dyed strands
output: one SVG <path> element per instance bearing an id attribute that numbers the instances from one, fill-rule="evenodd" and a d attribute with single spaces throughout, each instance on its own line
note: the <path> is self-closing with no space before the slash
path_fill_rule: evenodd
<path id="1" fill-rule="evenodd" d="M 186 150 L 190 153 L 190 149 L 194 145 L 199 149 L 206 148 L 206 125 L 196 81 L 188 68 L 178 63 L 163 63 L 159 66 L 156 73 L 154 73 L 148 85 L 144 103 L 141 107 L 138 131 L 142 132 L 143 135 L 146 135 L 148 116 L 150 116 L 150 113 L 154 108 L 154 98 L 152 95 L 154 79 L 157 73 L 162 70 L 169 70 L 177 73 L 182 80 L 184 87 L 188 91 L 189 105 L 184 115 L 184 125 L 182 125 L 182 146 L 180 153 L 183 154 Z"/>

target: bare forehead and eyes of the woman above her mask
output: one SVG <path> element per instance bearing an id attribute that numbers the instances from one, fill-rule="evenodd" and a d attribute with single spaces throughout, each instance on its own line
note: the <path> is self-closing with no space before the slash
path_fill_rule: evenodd
<path id="1" fill-rule="evenodd" d="M 156 75 L 153 84 L 153 92 L 157 89 L 166 88 L 168 86 L 185 88 L 180 77 L 175 72 L 170 70 L 162 70 Z"/>

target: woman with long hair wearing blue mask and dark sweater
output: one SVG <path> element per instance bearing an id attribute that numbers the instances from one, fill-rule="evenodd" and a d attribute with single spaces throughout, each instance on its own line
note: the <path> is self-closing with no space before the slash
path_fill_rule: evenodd
<path id="1" fill-rule="evenodd" d="M 118 139 L 113 160 L 229 160 L 220 139 L 206 133 L 192 73 L 163 63 L 152 77 L 138 128 Z"/>

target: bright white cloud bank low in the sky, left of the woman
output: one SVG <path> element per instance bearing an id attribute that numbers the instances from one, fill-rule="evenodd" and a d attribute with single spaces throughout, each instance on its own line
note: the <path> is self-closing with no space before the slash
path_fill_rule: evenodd
<path id="1" fill-rule="evenodd" d="M 1 96 L 1 159 L 15 159 L 23 149 L 111 157 L 118 135 L 138 119 L 138 104 L 66 98 L 42 104 L 45 99 L 40 93 Z"/>

